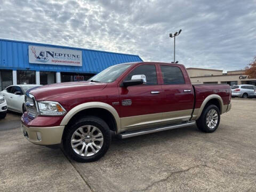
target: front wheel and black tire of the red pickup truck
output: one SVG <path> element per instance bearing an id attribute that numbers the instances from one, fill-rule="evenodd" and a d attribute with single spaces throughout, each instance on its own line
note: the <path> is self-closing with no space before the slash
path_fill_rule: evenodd
<path id="1" fill-rule="evenodd" d="M 95 116 L 79 119 L 63 133 L 63 148 L 77 162 L 93 162 L 106 154 L 111 132 L 105 121 Z"/>

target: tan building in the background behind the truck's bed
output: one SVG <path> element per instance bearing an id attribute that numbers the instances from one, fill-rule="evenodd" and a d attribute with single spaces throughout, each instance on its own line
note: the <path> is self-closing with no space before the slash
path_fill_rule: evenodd
<path id="1" fill-rule="evenodd" d="M 245 75 L 244 70 L 227 71 L 216 69 L 187 68 L 192 84 L 256 85 L 256 79 Z"/>

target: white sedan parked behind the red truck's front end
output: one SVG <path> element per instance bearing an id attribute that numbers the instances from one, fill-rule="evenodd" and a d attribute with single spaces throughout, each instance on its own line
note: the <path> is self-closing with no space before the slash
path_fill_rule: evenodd
<path id="1" fill-rule="evenodd" d="M 7 102 L 8 110 L 24 113 L 26 111 L 26 107 L 24 104 L 25 93 L 27 90 L 37 86 L 41 86 L 41 85 L 35 85 L 35 84 L 11 85 L 9 87 L 6 87 L 6 89 L 4 89 L 2 92 L 0 92 L 0 95 L 4 96 Z"/>

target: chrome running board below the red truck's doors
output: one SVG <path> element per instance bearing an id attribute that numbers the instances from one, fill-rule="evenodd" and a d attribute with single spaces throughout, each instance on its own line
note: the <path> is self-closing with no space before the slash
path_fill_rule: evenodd
<path id="1" fill-rule="evenodd" d="M 173 124 L 173 125 L 169 125 L 169 126 L 165 126 L 165 127 L 157 127 L 157 128 L 153 128 L 153 129 L 143 129 L 143 130 L 124 132 L 124 133 L 119 134 L 118 136 L 121 139 L 125 139 L 125 138 L 135 137 L 138 135 L 155 133 L 155 132 L 166 131 L 166 130 L 171 130 L 171 129 L 177 129 L 180 127 L 191 126 L 191 125 L 195 125 L 195 121 L 189 121 L 189 122 L 181 123 L 181 124 Z"/>

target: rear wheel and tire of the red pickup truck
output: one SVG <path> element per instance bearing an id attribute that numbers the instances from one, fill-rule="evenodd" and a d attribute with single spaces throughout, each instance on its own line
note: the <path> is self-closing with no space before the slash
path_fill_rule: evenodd
<path id="1" fill-rule="evenodd" d="M 219 123 L 220 110 L 215 105 L 206 106 L 196 121 L 198 129 L 206 133 L 212 133 L 217 130 Z"/>

